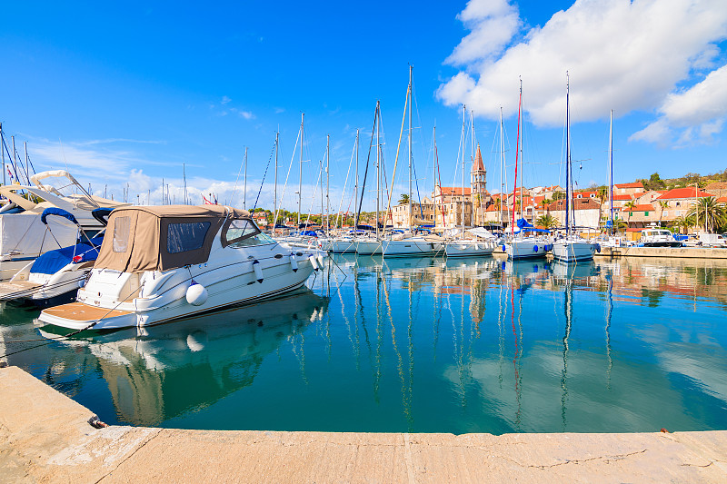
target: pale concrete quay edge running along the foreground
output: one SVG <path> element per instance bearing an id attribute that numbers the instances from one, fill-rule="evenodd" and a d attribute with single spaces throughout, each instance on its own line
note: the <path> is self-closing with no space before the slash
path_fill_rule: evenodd
<path id="1" fill-rule="evenodd" d="M 0 482 L 727 482 L 727 431 L 407 434 L 95 429 L 0 369 Z"/>

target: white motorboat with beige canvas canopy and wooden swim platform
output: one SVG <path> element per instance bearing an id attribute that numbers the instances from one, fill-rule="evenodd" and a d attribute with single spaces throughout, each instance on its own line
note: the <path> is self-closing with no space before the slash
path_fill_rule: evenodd
<path id="1" fill-rule="evenodd" d="M 146 326 L 304 285 L 324 252 L 291 250 L 222 205 L 116 209 L 76 301 L 39 321 L 74 330 Z"/>

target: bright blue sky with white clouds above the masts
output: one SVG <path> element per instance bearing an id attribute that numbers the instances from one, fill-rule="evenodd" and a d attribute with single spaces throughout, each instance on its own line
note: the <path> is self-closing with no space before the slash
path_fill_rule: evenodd
<path id="1" fill-rule="evenodd" d="M 160 202 L 164 178 L 180 200 L 185 163 L 193 202 L 214 192 L 241 206 L 242 181 L 233 189 L 247 146 L 250 208 L 278 129 L 283 191 L 304 113 L 304 158 L 312 160 L 304 165 L 304 199 L 313 200 L 330 134 L 337 208 L 355 129 L 362 130 L 365 159 L 377 100 L 391 176 L 409 64 L 421 193 L 432 189 L 435 124 L 442 183 L 461 183 L 462 104 L 473 109 L 493 192 L 496 113 L 503 107 L 512 179 L 521 77 L 524 182 L 563 184 L 566 70 L 579 186 L 607 180 L 609 109 L 616 182 L 727 168 L 723 1 L 14 2 L 4 5 L 4 16 L 5 135 L 28 142 L 38 171 L 67 166 L 95 193 L 116 199 L 129 183 L 133 199 L 144 202 L 151 193 L 151 202 Z M 400 166 L 395 195 L 405 191 L 402 173 Z M 270 168 L 258 206 L 272 205 L 272 181 Z M 297 183 L 294 166 L 287 209 L 295 209 Z M 372 198 L 366 193 L 364 206 Z M 304 202 L 304 210 L 309 206 Z"/>

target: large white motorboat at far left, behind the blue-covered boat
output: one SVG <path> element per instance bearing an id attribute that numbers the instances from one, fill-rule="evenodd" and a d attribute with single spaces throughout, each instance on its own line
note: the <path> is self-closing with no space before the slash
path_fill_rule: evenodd
<path id="1" fill-rule="evenodd" d="M 54 184 L 47 179 L 55 179 Z M 45 209 L 71 213 L 85 232 L 94 236 L 104 228 L 92 215 L 95 209 L 128 205 L 87 193 L 64 170 L 37 173 L 30 181 L 34 184 L 0 186 L 0 195 L 8 200 L 0 209 L 0 282 L 9 281 L 39 255 L 75 244 L 76 226 L 63 219 L 44 224 L 41 215 Z"/>

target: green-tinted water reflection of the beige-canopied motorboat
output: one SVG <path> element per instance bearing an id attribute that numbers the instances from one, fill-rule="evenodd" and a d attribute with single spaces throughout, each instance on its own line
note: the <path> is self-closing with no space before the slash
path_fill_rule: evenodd
<path id="1" fill-rule="evenodd" d="M 264 359 L 322 319 L 326 305 L 305 289 L 145 327 L 130 338 L 124 338 L 129 331 L 116 331 L 64 344 L 87 346 L 95 356 L 120 422 L 158 425 L 251 385 Z"/>

